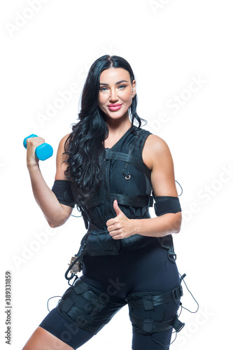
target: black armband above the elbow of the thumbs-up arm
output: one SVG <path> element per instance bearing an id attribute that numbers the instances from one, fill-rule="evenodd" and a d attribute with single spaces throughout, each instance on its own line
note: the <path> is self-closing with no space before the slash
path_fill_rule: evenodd
<path id="1" fill-rule="evenodd" d="M 178 197 L 158 196 L 155 197 L 155 214 L 161 216 L 168 213 L 181 211 L 181 204 Z"/>

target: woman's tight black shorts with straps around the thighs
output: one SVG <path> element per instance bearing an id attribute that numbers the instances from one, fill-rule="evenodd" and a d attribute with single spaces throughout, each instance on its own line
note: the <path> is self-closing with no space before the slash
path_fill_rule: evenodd
<path id="1" fill-rule="evenodd" d="M 132 307 L 132 298 L 143 295 L 148 300 L 150 296 L 169 293 L 179 286 L 176 263 L 168 259 L 167 251 L 157 240 L 120 255 L 85 255 L 83 262 L 83 275 L 66 290 L 58 306 L 40 324 L 73 349 L 97 334 L 126 304 L 129 304 L 131 320 L 136 313 L 139 318 L 143 315 L 158 323 L 176 316 L 179 298 L 157 305 L 153 310 Z M 133 350 L 169 349 L 172 328 L 148 332 L 148 328 L 143 330 L 132 323 Z M 106 344 L 106 349 L 109 347 L 111 344 Z"/>

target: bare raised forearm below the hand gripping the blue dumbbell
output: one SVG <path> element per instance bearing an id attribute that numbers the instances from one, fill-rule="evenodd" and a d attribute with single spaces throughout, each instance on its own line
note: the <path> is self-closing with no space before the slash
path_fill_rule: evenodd
<path id="1" fill-rule="evenodd" d="M 36 203 L 43 211 L 49 225 L 53 228 L 62 225 L 67 219 L 62 204 L 59 203 L 55 194 L 45 183 L 38 165 L 28 165 L 27 168 Z"/>

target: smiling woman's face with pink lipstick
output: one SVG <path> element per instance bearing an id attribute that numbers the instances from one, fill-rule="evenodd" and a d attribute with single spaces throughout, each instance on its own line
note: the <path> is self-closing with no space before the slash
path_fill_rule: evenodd
<path id="1" fill-rule="evenodd" d="M 99 108 L 108 119 L 117 120 L 128 116 L 128 109 L 136 94 L 135 85 L 135 80 L 131 83 L 126 69 L 108 68 L 102 71 L 99 78 Z"/>

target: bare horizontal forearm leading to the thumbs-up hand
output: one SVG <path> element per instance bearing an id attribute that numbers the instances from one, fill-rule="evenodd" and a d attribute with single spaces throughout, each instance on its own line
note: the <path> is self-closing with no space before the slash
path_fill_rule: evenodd
<path id="1" fill-rule="evenodd" d="M 181 212 L 156 218 L 132 219 L 132 232 L 148 237 L 164 237 L 181 230 Z"/>

